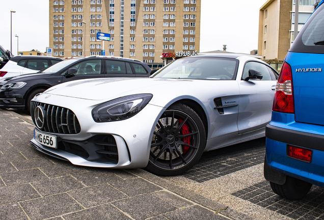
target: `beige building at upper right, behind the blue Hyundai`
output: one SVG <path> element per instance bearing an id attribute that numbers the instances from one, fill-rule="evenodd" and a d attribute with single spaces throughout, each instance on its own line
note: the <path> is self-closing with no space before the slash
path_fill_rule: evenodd
<path id="1" fill-rule="evenodd" d="M 294 39 L 296 0 L 268 0 L 259 12 L 258 54 L 263 60 L 283 61 Z M 319 0 L 299 0 L 298 31 Z"/>

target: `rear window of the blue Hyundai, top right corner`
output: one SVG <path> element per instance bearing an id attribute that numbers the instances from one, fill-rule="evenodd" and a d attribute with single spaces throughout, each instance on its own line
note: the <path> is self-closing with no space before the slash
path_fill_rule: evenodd
<path id="1" fill-rule="evenodd" d="M 305 23 L 289 51 L 324 53 L 324 4 Z"/>

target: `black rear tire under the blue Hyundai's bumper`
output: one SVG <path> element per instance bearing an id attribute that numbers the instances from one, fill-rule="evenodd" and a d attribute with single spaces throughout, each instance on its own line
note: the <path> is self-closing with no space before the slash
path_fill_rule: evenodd
<path id="1" fill-rule="evenodd" d="M 311 183 L 290 176 L 286 177 L 286 182 L 283 185 L 273 182 L 270 182 L 270 185 L 275 194 L 289 200 L 304 198 L 312 187 Z"/>

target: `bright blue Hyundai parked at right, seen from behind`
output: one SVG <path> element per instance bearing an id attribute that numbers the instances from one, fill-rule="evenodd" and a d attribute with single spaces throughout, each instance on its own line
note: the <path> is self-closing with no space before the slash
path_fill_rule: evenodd
<path id="1" fill-rule="evenodd" d="M 294 40 L 280 71 L 266 126 L 264 177 L 281 197 L 324 187 L 324 1 Z"/>

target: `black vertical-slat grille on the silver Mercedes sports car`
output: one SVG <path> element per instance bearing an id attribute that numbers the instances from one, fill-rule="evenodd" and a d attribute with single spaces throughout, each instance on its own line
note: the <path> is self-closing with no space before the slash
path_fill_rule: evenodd
<path id="1" fill-rule="evenodd" d="M 35 108 L 39 105 L 45 111 L 44 126 L 38 128 L 41 131 L 60 134 L 77 134 L 81 131 L 79 121 L 70 109 L 32 101 L 31 116 L 35 125 Z"/>

